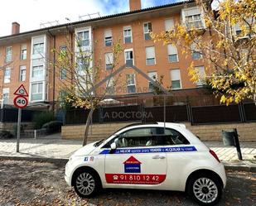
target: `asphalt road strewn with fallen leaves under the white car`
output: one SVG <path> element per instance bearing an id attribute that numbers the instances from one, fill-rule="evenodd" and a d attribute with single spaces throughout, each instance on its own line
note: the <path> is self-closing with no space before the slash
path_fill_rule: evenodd
<path id="1" fill-rule="evenodd" d="M 65 184 L 65 165 L 0 160 L 0 205 L 196 205 L 171 191 L 104 189 L 94 199 L 80 199 Z M 256 173 L 227 171 L 228 184 L 219 205 L 256 205 Z"/>

